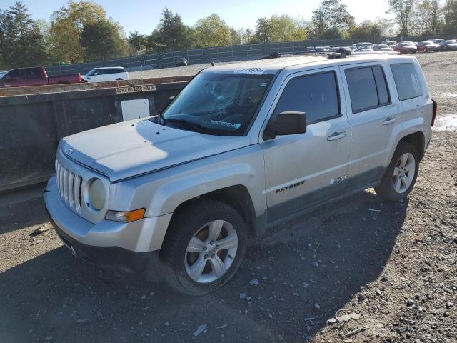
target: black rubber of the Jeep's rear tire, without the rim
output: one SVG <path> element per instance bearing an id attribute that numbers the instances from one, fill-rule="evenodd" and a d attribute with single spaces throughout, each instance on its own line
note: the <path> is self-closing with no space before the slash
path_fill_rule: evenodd
<path id="1" fill-rule="evenodd" d="M 404 192 L 396 192 L 396 190 L 393 187 L 393 173 L 396 168 L 396 165 L 403 154 L 412 154 L 414 157 L 414 162 L 416 164 L 416 168 L 414 170 L 414 175 L 413 179 L 411 181 L 411 184 L 408 186 L 408 188 Z M 414 184 L 416 183 L 417 175 L 419 172 L 419 153 L 416 149 L 415 146 L 412 144 L 406 143 L 406 142 L 400 142 L 398 144 L 397 149 L 395 153 L 393 154 L 391 163 L 389 164 L 386 173 L 383 176 L 383 179 L 381 180 L 381 184 L 379 184 L 378 187 L 375 187 L 376 194 L 378 194 L 379 197 L 386 201 L 390 202 L 398 202 L 398 200 L 403 199 L 404 197 L 408 196 L 408 194 L 411 192 L 411 189 L 413 189 Z"/>

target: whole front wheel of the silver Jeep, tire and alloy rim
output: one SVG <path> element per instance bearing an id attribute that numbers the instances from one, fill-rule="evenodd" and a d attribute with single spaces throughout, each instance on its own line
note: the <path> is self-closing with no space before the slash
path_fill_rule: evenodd
<path id="1" fill-rule="evenodd" d="M 214 235 L 210 237 L 210 233 L 220 226 L 220 234 L 211 240 Z M 185 294 L 202 295 L 222 287 L 236 273 L 246 252 L 246 224 L 224 202 L 202 200 L 189 205 L 172 219 L 169 230 L 161 250 L 165 279 Z M 191 239 L 195 242 L 192 246 Z M 231 248 L 221 249 L 217 242 L 231 244 L 227 245 Z M 219 267 L 215 269 L 215 265 Z"/>

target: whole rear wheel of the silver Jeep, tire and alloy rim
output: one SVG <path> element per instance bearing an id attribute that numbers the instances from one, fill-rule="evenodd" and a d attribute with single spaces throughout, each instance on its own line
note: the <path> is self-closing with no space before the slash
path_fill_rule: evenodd
<path id="1" fill-rule="evenodd" d="M 412 163 L 412 165 L 408 167 L 409 171 L 406 168 L 402 168 L 402 165 L 404 166 L 403 162 L 405 161 L 405 156 L 406 166 Z M 402 158 L 403 161 L 401 160 Z M 412 169 L 412 166 L 414 169 Z M 376 194 L 382 199 L 390 202 L 397 202 L 398 200 L 403 199 L 408 196 L 411 189 L 413 189 L 418 172 L 419 154 L 416 147 L 406 142 L 400 142 L 393 154 L 391 163 L 381 180 L 381 184 L 379 184 L 378 187 L 375 187 Z M 399 173 L 400 176 L 397 176 L 397 173 Z M 400 185 L 399 187 L 398 182 Z"/>

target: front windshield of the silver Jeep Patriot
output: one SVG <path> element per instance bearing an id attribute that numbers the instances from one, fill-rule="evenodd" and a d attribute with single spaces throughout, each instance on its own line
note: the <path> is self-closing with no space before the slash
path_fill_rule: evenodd
<path id="1" fill-rule="evenodd" d="M 164 111 L 165 124 L 207 134 L 242 136 L 273 78 L 252 72 L 197 75 Z"/>

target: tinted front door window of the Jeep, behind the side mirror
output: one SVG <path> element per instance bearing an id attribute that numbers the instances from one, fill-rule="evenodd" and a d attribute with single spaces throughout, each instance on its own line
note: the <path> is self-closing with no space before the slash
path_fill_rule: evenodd
<path id="1" fill-rule="evenodd" d="M 339 116 L 335 73 L 329 71 L 299 76 L 288 81 L 274 114 L 285 111 L 305 112 L 307 124 Z"/>

